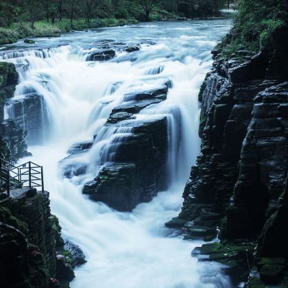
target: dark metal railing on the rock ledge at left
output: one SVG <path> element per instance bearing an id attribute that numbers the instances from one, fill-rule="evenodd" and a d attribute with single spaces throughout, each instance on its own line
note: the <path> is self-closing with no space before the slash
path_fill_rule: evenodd
<path id="1" fill-rule="evenodd" d="M 41 187 L 44 191 L 43 167 L 31 161 L 14 166 L 0 158 L 0 189 L 10 196 L 12 189 Z"/>

